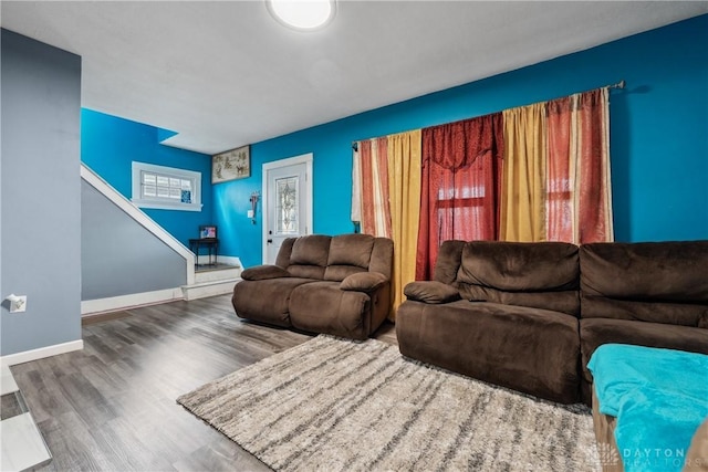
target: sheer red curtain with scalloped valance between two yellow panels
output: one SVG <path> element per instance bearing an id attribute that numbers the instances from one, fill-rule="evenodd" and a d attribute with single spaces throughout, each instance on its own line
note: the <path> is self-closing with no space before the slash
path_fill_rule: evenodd
<path id="1" fill-rule="evenodd" d="M 502 114 L 423 129 L 416 280 L 430 280 L 447 240 L 496 240 L 503 156 Z"/>

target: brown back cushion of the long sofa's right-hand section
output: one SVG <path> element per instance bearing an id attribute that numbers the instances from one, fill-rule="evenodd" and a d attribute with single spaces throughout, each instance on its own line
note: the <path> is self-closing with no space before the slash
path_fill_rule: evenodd
<path id="1" fill-rule="evenodd" d="M 708 241 L 584 244 L 580 264 L 583 318 L 707 323 Z"/>

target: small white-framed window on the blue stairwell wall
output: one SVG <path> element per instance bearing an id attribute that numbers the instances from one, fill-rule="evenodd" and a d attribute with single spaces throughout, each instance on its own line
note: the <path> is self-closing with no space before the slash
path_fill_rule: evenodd
<path id="1" fill-rule="evenodd" d="M 132 201 L 140 208 L 201 211 L 201 172 L 134 161 Z"/>

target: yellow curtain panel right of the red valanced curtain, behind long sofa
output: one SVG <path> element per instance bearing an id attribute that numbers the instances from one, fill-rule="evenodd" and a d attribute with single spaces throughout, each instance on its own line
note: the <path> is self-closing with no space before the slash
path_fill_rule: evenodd
<path id="1" fill-rule="evenodd" d="M 545 240 L 545 104 L 507 109 L 499 239 Z"/>

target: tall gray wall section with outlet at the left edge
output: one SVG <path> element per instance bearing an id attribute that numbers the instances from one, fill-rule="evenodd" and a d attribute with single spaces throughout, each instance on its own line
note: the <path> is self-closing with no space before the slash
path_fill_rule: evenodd
<path id="1" fill-rule="evenodd" d="M 81 339 L 81 57 L 2 30 L 1 355 Z"/>

